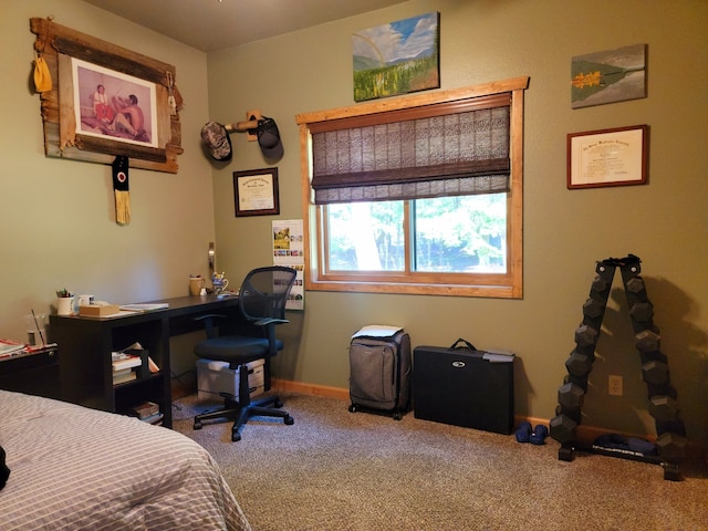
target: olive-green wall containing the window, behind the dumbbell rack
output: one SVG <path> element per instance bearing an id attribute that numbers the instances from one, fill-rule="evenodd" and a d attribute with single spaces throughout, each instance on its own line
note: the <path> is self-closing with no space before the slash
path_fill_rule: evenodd
<path id="1" fill-rule="evenodd" d="M 517 414 L 554 416 L 564 362 L 594 277 L 595 261 L 634 253 L 662 331 L 689 438 L 708 440 L 708 4 L 704 1 L 615 2 L 412 0 L 208 55 L 211 115 L 243 119 L 260 108 L 280 127 L 285 155 L 281 219 L 301 218 L 298 113 L 352 105 L 351 34 L 393 20 L 440 12 L 441 88 L 530 75 L 525 98 L 524 296 L 522 300 L 364 293 L 305 294 L 291 312 L 278 376 L 347 388 L 347 344 L 364 324 L 405 326 L 414 345 L 516 352 Z M 648 44 L 648 97 L 572 110 L 574 55 Z M 568 190 L 566 134 L 650 126 L 647 186 Z M 235 218 L 232 171 L 267 167 L 256 144 L 232 135 L 235 158 L 214 168 L 219 269 L 232 279 L 271 261 L 273 217 Z M 620 275 L 615 279 L 583 424 L 655 434 L 634 348 Z M 607 395 L 607 375 L 624 396 Z"/>

